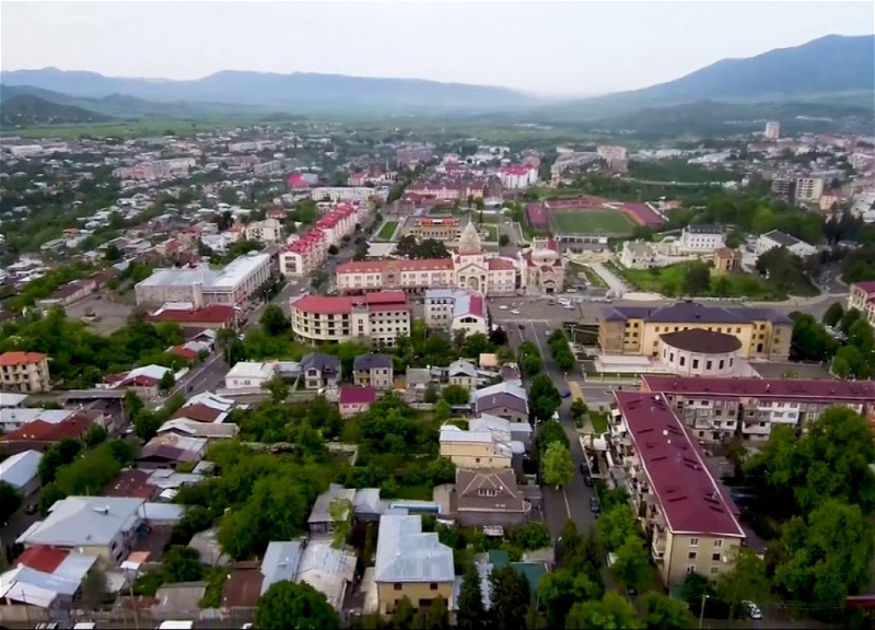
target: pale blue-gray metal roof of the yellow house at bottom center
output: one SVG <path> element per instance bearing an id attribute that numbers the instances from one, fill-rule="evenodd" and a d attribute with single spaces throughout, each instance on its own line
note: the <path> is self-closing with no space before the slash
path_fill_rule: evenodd
<path id="1" fill-rule="evenodd" d="M 384 515 L 376 542 L 375 582 L 453 582 L 453 550 L 422 532 L 421 516 Z"/>

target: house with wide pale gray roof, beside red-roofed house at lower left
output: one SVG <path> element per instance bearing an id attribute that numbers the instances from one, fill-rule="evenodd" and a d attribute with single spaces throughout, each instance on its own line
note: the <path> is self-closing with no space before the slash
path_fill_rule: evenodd
<path id="1" fill-rule="evenodd" d="M 142 499 L 126 497 L 68 497 L 57 501 L 44 521 L 19 536 L 25 549 L 52 547 L 97 556 L 117 564 L 127 557 L 143 523 Z"/>

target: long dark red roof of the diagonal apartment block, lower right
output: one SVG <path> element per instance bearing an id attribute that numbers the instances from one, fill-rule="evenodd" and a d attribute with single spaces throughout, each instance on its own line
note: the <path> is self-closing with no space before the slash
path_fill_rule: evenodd
<path id="1" fill-rule="evenodd" d="M 614 396 L 672 532 L 743 538 L 737 509 L 665 398 L 633 392 Z"/>

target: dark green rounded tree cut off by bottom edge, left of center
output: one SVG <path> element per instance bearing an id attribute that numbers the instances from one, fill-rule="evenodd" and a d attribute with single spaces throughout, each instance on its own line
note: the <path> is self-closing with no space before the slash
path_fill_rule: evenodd
<path id="1" fill-rule="evenodd" d="M 257 628 L 340 628 L 340 619 L 324 594 L 303 582 L 275 582 L 258 600 Z"/>

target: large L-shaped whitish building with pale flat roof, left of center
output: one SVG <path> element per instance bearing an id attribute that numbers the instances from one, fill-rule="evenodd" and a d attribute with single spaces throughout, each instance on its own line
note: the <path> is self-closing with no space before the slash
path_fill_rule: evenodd
<path id="1" fill-rule="evenodd" d="M 270 254 L 250 252 L 222 270 L 207 266 L 156 269 L 135 287 L 137 304 L 187 302 L 195 308 L 209 304 L 236 306 L 258 294 L 270 279 Z"/>

